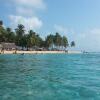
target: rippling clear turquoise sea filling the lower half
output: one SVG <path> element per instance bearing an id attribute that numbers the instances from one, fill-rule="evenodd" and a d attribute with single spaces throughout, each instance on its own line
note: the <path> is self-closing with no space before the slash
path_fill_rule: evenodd
<path id="1" fill-rule="evenodd" d="M 0 100 L 100 100 L 100 54 L 0 55 Z"/>

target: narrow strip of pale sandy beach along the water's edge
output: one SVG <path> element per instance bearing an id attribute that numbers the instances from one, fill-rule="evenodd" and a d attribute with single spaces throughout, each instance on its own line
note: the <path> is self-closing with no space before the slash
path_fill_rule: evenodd
<path id="1" fill-rule="evenodd" d="M 0 54 L 81 54 L 81 51 L 3 51 Z"/>

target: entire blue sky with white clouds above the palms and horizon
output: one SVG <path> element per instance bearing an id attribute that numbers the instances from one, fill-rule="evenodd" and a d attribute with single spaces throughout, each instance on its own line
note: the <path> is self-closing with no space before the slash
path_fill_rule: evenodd
<path id="1" fill-rule="evenodd" d="M 43 38 L 59 32 L 75 41 L 76 50 L 100 52 L 100 0 L 0 0 L 0 20 Z"/>

